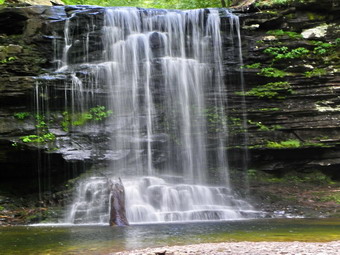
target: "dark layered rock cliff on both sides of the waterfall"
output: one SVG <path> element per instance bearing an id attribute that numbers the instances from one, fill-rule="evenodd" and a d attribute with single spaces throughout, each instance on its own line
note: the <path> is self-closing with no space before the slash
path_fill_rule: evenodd
<path id="1" fill-rule="evenodd" d="M 230 125 L 226 149 L 236 172 L 242 168 L 239 155 L 248 154 L 251 169 L 277 175 L 319 170 L 340 178 L 338 11 L 333 1 L 235 10 L 242 28 L 244 65 L 241 70 L 235 68 L 226 50 L 225 69 L 229 83 L 240 72 L 244 79 L 244 91 L 230 86 L 226 93 Z M 44 179 L 39 189 L 53 192 L 94 163 L 98 167 L 117 160 L 107 157 L 109 123 L 92 123 L 91 132 L 78 127 L 69 130 L 67 113 L 56 113 L 48 120 L 36 115 L 37 100 L 53 102 L 54 111 L 64 103 L 60 98 L 69 77 L 49 80 L 48 74 L 56 66 L 53 43 L 62 44 L 66 17 L 74 12 L 84 13 L 79 24 L 91 19 L 102 22 L 101 8 L 0 8 L 0 179 L 5 189 L 16 193 L 36 192 L 38 176 Z M 74 33 L 83 36 L 82 31 Z M 96 58 L 98 30 L 90 37 L 97 41 L 89 49 Z M 79 52 L 72 54 L 77 61 Z M 39 79 L 44 79 L 47 90 L 37 94 Z M 52 82 L 57 87 L 53 95 L 48 93 Z M 102 96 L 106 97 L 105 91 Z M 240 110 L 242 102 L 246 111 Z M 242 123 L 244 116 L 247 127 Z M 43 134 L 35 135 L 37 129 Z M 37 139 L 42 142 L 34 142 Z"/>

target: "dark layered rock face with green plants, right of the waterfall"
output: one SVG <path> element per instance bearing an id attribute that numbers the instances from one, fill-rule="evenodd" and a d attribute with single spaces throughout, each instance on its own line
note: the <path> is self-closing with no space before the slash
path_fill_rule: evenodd
<path id="1" fill-rule="evenodd" d="M 249 65 L 244 78 L 251 167 L 278 172 L 321 169 L 339 178 L 335 158 L 340 80 L 339 62 L 334 58 L 339 52 L 338 8 L 324 1 L 320 6 L 241 15 L 247 48 L 244 63 Z M 306 54 L 289 55 L 296 49 Z M 251 66 L 254 63 L 258 66 Z M 264 72 L 268 68 L 286 73 L 275 77 L 278 73 Z M 278 82 L 287 82 L 291 91 L 282 90 L 281 99 L 262 93 L 271 90 L 263 85 Z"/>

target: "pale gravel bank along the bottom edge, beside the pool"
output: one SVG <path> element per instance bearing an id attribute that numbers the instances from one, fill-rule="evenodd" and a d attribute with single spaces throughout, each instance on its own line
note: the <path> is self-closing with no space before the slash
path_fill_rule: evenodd
<path id="1" fill-rule="evenodd" d="M 340 255 L 340 241 L 203 243 L 185 246 L 146 248 L 114 255 Z"/>

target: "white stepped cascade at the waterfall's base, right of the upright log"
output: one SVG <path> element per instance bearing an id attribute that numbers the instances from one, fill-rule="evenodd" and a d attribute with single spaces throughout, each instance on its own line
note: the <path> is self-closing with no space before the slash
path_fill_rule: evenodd
<path id="1" fill-rule="evenodd" d="M 144 177 L 125 182 L 130 223 L 234 220 L 255 212 L 232 190 Z"/>

